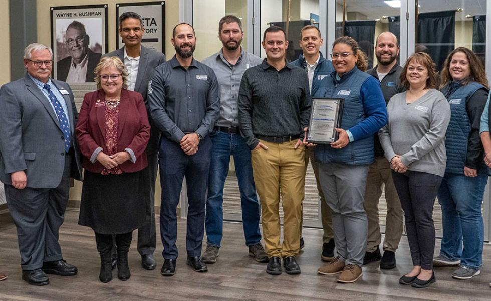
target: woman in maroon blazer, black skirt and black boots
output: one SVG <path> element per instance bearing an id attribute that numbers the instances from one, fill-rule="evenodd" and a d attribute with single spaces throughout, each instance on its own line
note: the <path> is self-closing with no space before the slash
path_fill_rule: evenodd
<path id="1" fill-rule="evenodd" d="M 99 279 L 112 279 L 112 235 L 118 278 L 130 277 L 128 249 L 133 230 L 145 222 L 141 170 L 150 125 L 140 93 L 126 90 L 128 72 L 118 57 L 104 57 L 94 70 L 99 90 L 85 94 L 75 128 L 85 169 L 79 224 L 95 232 L 101 255 Z"/>

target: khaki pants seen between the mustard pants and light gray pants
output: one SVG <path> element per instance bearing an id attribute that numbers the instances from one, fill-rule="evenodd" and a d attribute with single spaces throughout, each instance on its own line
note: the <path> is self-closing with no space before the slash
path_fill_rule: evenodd
<path id="1" fill-rule="evenodd" d="M 319 163 L 315 159 L 314 147 L 305 148 L 305 169 L 309 166 L 309 161 L 312 164 L 312 169 L 314 170 L 314 175 L 316 177 L 317 190 L 319 191 L 319 198 L 321 199 L 321 223 L 322 230 L 324 231 L 322 235 L 322 242 L 328 243 L 334 238 L 333 232 L 333 212 L 331 208 L 327 205 L 326 199 L 324 198 L 324 193 L 322 192 L 321 184 L 319 183 Z M 302 237 L 302 225 L 303 225 L 303 210 L 302 219 L 300 220 L 300 237 Z"/>

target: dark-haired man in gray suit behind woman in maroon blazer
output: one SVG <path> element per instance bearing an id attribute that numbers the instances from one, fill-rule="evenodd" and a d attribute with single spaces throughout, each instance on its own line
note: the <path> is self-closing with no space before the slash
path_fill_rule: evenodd
<path id="1" fill-rule="evenodd" d="M 119 35 L 125 46 L 107 54 L 107 56 L 119 57 L 128 69 L 128 90 L 139 92 L 143 96 L 151 125 L 150 140 L 146 148 L 148 167 L 143 171 L 144 183 L 148 185 L 145 189 L 148 194 L 144 200 L 147 207 L 147 223 L 138 229 L 138 252 L 141 255 L 142 267 L 153 270 L 156 266 L 155 259 L 153 259 L 156 246 L 154 196 L 160 131 L 153 126 L 150 118 L 147 88 L 148 80 L 152 77 L 155 67 L 165 62 L 165 56 L 141 45 L 143 32 L 143 21 L 140 15 L 134 12 L 121 14 L 119 16 Z"/>

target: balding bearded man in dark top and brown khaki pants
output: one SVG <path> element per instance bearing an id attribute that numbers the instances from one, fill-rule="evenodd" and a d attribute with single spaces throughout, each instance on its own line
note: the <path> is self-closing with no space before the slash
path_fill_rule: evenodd
<path id="1" fill-rule="evenodd" d="M 378 65 L 367 71 L 378 80 L 382 86 L 385 103 L 392 96 L 405 89 L 400 82 L 402 67 L 397 63 L 399 46 L 397 37 L 391 32 L 383 32 L 377 37 L 375 55 Z M 395 251 L 399 246 L 402 235 L 403 211 L 397 192 L 392 182 L 390 164 L 384 157 L 384 150 L 380 145 L 378 135 L 374 135 L 375 162 L 370 165 L 365 190 L 365 211 L 368 217 L 368 240 L 363 264 L 379 261 L 380 268 L 391 269 L 396 267 Z M 383 243 L 384 256 L 380 254 L 379 245 L 382 241 L 379 226 L 378 203 L 382 195 L 382 184 L 385 188 L 387 202 L 387 217 L 385 221 L 385 239 Z"/>

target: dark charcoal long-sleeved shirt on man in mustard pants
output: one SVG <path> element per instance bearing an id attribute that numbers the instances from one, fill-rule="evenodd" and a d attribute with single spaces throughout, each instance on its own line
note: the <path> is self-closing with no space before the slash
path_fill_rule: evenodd
<path id="1" fill-rule="evenodd" d="M 285 65 L 277 71 L 266 59 L 246 70 L 240 82 L 238 117 L 249 148 L 259 143 L 255 135 L 303 138 L 311 103 L 304 70 Z"/>

